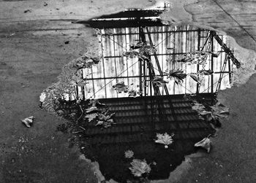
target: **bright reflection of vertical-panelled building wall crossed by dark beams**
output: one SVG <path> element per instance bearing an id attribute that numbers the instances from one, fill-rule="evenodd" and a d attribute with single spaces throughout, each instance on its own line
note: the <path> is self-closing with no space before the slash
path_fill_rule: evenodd
<path id="1" fill-rule="evenodd" d="M 147 64 L 138 61 L 138 58 L 127 59 L 122 55 L 124 51 L 129 50 L 129 44 L 143 41 L 140 36 L 142 31 L 145 41 L 150 42 L 151 40 L 157 48 L 156 54 L 149 56 L 155 74 L 158 76 L 161 75 L 160 69 L 161 71 L 184 69 L 187 73 L 201 70 L 202 66 L 197 64 L 189 65 L 188 63 L 170 61 L 170 59 L 176 60 L 179 55 L 186 52 L 205 50 L 216 53 L 208 55 L 205 67 L 205 69 L 213 70 L 214 74 L 206 76 L 200 87 L 193 79 L 187 77 L 182 85 L 170 81 L 167 84 L 169 94 L 214 93 L 219 88 L 225 89 L 230 84 L 233 63 L 226 58 L 226 50 L 223 50 L 221 46 L 223 36 L 214 36 L 214 31 L 192 26 L 163 25 L 158 18 L 160 12 L 159 10 L 133 10 L 89 21 L 91 26 L 99 28 L 102 35 L 100 39 L 104 59 L 92 69 L 83 69 L 83 78 L 88 80 L 89 85 L 78 87 L 78 93 L 83 93 L 85 98 L 125 97 L 126 94 L 117 94 L 112 88 L 116 82 L 124 81 L 132 89 L 136 89 L 137 85 L 140 85 L 143 88 L 143 96 L 152 95 L 153 88 L 150 87 L 150 83 L 143 82 L 150 79 L 148 69 L 144 70 Z M 166 79 L 165 74 L 163 77 Z M 164 90 L 161 90 L 161 93 L 165 94 Z"/>

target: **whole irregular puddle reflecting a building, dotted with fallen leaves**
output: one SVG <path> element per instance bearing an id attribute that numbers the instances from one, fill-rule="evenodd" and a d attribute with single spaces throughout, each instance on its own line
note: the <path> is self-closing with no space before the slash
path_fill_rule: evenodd
<path id="1" fill-rule="evenodd" d="M 230 87 L 240 63 L 226 37 L 166 25 L 162 11 L 129 9 L 80 22 L 95 28 L 99 50 L 65 66 L 58 85 L 40 97 L 67 121 L 58 130 L 73 133 L 70 147 L 78 141 L 106 180 L 168 179 L 228 114 L 217 93 Z"/>

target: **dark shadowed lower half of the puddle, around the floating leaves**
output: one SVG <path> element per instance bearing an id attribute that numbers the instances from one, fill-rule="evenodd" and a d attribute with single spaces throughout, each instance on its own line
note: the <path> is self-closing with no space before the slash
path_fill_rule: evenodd
<path id="1" fill-rule="evenodd" d="M 79 137 L 81 152 L 86 158 L 99 163 L 105 179 L 141 182 L 131 174 L 129 167 L 132 159 L 125 158 L 124 152 L 132 150 L 136 159 L 145 159 L 150 164 L 148 179 L 167 179 L 185 155 L 196 151 L 194 144 L 197 141 L 215 132 L 208 122 L 200 120 L 197 112 L 191 109 L 192 99 L 212 105 L 214 98 L 211 93 L 205 93 L 190 100 L 185 100 L 184 95 L 101 99 L 100 102 L 106 106 L 99 106 L 99 109 L 108 107 L 110 112 L 116 112 L 116 125 L 110 128 L 95 126 L 97 120 L 89 122 L 84 115 L 75 122 L 81 114 L 80 106 L 88 108 L 87 101 L 82 101 L 80 106 L 75 101 L 64 101 L 59 111 L 70 122 L 86 129 L 75 133 Z M 159 112 L 157 102 L 163 104 L 161 111 L 164 113 Z M 155 143 L 157 133 L 174 133 L 173 144 L 165 149 L 163 144 Z"/>

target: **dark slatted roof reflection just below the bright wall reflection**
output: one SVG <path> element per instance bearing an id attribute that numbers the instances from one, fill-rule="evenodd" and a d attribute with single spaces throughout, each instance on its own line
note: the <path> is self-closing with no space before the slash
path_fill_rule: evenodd
<path id="1" fill-rule="evenodd" d="M 210 101 L 212 94 L 204 96 Z M 114 119 L 117 124 L 102 130 L 89 123 L 86 136 L 94 137 L 92 144 L 99 141 L 101 144 L 140 141 L 141 138 L 136 138 L 140 133 L 143 133 L 143 139 L 148 139 L 152 133 L 166 131 L 176 133 L 176 139 L 200 139 L 212 132 L 211 125 L 198 118 L 197 112 L 192 110 L 191 101 L 185 101 L 183 95 L 108 98 L 102 102 L 110 107 L 111 112 L 116 112 Z M 162 109 L 157 102 L 163 104 Z M 110 138 L 106 139 L 108 135 Z"/>

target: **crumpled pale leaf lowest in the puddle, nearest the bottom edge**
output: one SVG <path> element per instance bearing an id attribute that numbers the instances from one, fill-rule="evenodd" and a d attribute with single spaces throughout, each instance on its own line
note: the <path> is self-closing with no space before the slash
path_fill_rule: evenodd
<path id="1" fill-rule="evenodd" d="M 134 176 L 142 176 L 143 174 L 149 174 L 151 171 L 150 166 L 146 163 L 146 160 L 134 159 L 131 163 L 130 171 Z"/>

